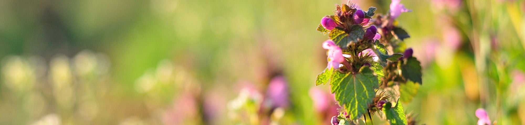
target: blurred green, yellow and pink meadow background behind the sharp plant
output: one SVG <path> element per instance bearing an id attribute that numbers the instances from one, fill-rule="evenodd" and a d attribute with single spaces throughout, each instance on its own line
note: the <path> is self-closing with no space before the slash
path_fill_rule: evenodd
<path id="1" fill-rule="evenodd" d="M 345 2 L 2 0 L 0 124 L 329 124 L 309 95 L 329 87 L 314 87 L 327 39 L 316 28 Z M 381 14 L 390 5 L 353 2 Z M 401 3 L 413 12 L 398 25 L 423 66 L 404 104 L 418 124 L 476 124 L 478 108 L 525 124 L 523 1 Z M 288 107 L 231 108 L 276 76 Z M 239 117 L 254 113 L 269 122 Z"/>

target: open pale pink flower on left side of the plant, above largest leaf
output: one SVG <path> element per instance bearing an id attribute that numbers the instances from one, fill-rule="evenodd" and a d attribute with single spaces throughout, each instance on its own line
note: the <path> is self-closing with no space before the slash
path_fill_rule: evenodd
<path id="1" fill-rule="evenodd" d="M 339 46 L 335 45 L 332 40 L 328 39 L 323 42 L 323 48 L 328 49 L 328 66 L 334 69 L 339 68 L 339 64 L 344 61 L 343 51 Z"/>

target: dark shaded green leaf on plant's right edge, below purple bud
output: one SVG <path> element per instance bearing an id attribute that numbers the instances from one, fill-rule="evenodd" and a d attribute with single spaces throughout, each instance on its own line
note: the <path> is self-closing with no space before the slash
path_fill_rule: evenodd
<path id="1" fill-rule="evenodd" d="M 408 58 L 401 66 L 401 74 L 403 78 L 422 84 L 421 80 L 421 63 L 417 61 L 416 57 Z"/>

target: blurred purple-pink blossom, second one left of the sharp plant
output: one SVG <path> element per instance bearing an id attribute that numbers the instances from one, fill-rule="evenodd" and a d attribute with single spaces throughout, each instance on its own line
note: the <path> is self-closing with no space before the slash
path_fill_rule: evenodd
<path id="1" fill-rule="evenodd" d="M 271 79 L 266 91 L 267 101 L 270 101 L 274 107 L 288 107 L 289 94 L 288 82 L 285 77 L 277 76 Z"/>

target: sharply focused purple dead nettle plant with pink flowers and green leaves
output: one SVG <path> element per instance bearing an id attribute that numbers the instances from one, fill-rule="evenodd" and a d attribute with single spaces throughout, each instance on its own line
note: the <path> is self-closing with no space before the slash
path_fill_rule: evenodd
<path id="1" fill-rule="evenodd" d="M 373 124 L 374 114 L 390 124 L 415 124 L 401 102 L 410 102 L 422 84 L 421 65 L 414 50 L 405 48 L 403 40 L 410 36 L 394 23 L 411 10 L 400 0 L 392 0 L 386 15 L 376 15 L 375 7 L 358 8 L 336 4 L 334 14 L 324 16 L 317 28 L 329 39 L 321 44 L 328 50 L 328 64 L 316 86 L 329 83 L 344 108 L 331 124 Z"/>

